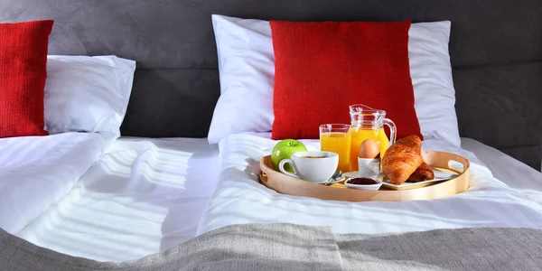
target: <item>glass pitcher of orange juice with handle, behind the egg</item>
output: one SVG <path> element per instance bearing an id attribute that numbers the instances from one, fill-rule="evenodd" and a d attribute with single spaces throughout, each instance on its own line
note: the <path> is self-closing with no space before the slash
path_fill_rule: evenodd
<path id="1" fill-rule="evenodd" d="M 386 118 L 386 111 L 373 109 L 366 105 L 350 106 L 350 172 L 358 171 L 358 155 L 361 143 L 368 138 L 375 140 L 380 149 L 380 159 L 388 147 L 396 140 L 396 126 Z M 384 125 L 389 127 L 389 137 L 384 132 Z"/>

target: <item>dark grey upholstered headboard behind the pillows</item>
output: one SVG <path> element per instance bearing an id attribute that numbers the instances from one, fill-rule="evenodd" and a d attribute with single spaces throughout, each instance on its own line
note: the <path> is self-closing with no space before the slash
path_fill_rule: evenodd
<path id="1" fill-rule="evenodd" d="M 0 21 L 55 20 L 51 54 L 116 54 L 138 62 L 123 135 L 207 135 L 220 95 L 210 14 L 450 20 L 461 135 L 540 166 L 540 0 L 0 0 Z"/>

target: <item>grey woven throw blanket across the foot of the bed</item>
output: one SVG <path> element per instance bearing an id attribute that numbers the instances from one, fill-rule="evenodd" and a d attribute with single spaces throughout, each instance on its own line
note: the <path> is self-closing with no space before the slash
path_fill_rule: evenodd
<path id="1" fill-rule="evenodd" d="M 39 248 L 0 229 L 0 270 L 541 270 L 542 230 L 438 229 L 333 234 L 327 227 L 236 225 L 163 253 L 97 262 Z"/>

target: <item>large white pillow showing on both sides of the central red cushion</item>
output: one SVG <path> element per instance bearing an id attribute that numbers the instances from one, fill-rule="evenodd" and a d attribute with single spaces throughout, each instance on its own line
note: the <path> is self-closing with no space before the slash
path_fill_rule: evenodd
<path id="1" fill-rule="evenodd" d="M 271 131 L 275 55 L 269 23 L 216 14 L 211 18 L 219 56 L 220 98 L 210 123 L 209 143 L 235 133 Z M 408 57 L 422 135 L 459 146 L 448 54 L 450 24 L 413 23 L 408 32 Z"/>

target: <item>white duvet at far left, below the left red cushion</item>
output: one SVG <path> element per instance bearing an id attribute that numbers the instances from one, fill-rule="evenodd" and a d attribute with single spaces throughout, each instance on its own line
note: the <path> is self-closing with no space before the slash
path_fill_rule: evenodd
<path id="1" fill-rule="evenodd" d="M 0 228 L 19 233 L 70 191 L 109 142 L 86 133 L 0 139 Z"/>

